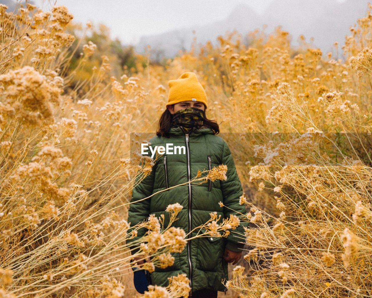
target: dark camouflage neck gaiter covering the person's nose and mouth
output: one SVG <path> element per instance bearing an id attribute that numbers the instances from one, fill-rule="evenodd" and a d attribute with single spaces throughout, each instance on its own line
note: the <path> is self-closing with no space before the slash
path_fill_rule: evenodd
<path id="1" fill-rule="evenodd" d="M 203 125 L 204 112 L 198 108 L 186 108 L 173 114 L 172 126 L 182 126 L 187 132 L 193 127 L 199 129 Z"/>

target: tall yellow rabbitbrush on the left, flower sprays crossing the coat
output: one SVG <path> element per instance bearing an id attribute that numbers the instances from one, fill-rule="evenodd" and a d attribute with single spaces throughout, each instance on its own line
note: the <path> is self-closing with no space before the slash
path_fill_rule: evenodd
<path id="1" fill-rule="evenodd" d="M 140 249 L 131 256 L 126 240 L 140 228 L 149 232 L 137 247 L 151 244 L 155 234 L 162 239 L 146 254 L 153 257 L 152 263 L 145 263 L 153 270 L 173 264 L 170 253 L 182 251 L 187 237 L 170 228 L 179 209 L 169 210 L 166 227 L 154 218 L 129 231 L 125 221 L 132 187 L 154 164 L 136 153 L 139 140 L 132 144 L 129 140 L 130 131 L 148 125 L 134 120 L 144 111 L 138 104 L 148 93 L 136 77 L 123 76 L 122 85 L 110 78 L 103 57 L 102 66 L 88 80 L 88 98 L 68 85 L 78 82 L 72 80 L 76 73 L 64 77 L 74 40 L 65 33 L 73 17 L 67 8 L 54 6 L 51 12 L 42 12 L 28 5 L 15 15 L 5 10 L 1 4 L 1 297 L 133 293 L 123 282 L 128 284 L 135 265 L 132 257 L 145 252 Z M 86 56 L 79 67 L 91 54 L 83 48 Z M 162 92 L 154 88 L 156 96 Z M 188 284 L 179 276 L 164 291 L 179 297 L 189 291 Z"/>

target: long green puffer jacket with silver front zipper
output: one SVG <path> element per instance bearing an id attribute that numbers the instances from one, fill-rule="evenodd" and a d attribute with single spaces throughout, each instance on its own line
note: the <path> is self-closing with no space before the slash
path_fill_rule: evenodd
<path id="1" fill-rule="evenodd" d="M 245 207 L 239 205 L 239 197 L 243 194 L 241 183 L 225 141 L 209 128 L 194 129 L 190 134 L 185 134 L 180 127 L 177 127 L 171 128 L 169 132 L 170 138 L 152 138 L 151 146 L 165 147 L 166 143 L 185 146 L 186 154 L 178 154 L 177 151 L 177 154 L 161 155 L 151 173 L 134 188 L 131 202 L 148 197 L 167 187 L 185 183 L 195 177 L 198 170 L 211 169 L 220 164 L 227 165 L 227 180 L 208 180 L 198 186 L 186 184 L 163 191 L 148 200 L 132 203 L 128 222 L 135 225 L 153 213 L 157 217 L 164 214 L 164 218 L 167 219 L 169 218 L 168 212 L 165 211 L 167 206 L 180 203 L 183 209 L 173 226 L 184 229 L 187 234 L 190 229 L 207 222 L 211 218 L 209 215 L 211 212 L 217 211 L 221 218 L 230 217 L 230 213 L 236 214 L 232 210 L 245 214 Z M 220 207 L 219 202 L 223 202 L 226 207 Z M 193 232 L 191 237 L 197 232 L 198 230 Z M 223 259 L 224 250 L 228 248 L 231 251 L 241 251 L 244 246 L 239 243 L 243 241 L 242 236 L 237 235 L 236 232 L 244 234 L 242 223 L 236 230 L 231 231 L 227 238 L 200 237 L 190 240 L 182 253 L 173 254 L 175 258 L 173 266 L 165 269 L 155 268 L 155 272 L 151 274 L 153 285 L 167 286 L 168 277 L 186 273 L 191 280 L 192 291 L 199 289 L 225 291 L 226 288 L 221 283 L 221 280 L 228 279 L 227 263 Z M 138 237 L 141 236 L 139 233 Z"/>

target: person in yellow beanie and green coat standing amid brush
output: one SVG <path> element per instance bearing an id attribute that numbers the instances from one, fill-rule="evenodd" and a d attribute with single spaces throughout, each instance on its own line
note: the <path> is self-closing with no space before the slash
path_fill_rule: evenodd
<path id="1" fill-rule="evenodd" d="M 150 214 L 156 217 L 167 212 L 168 205 L 180 203 L 183 209 L 173 226 L 182 228 L 186 234 L 207 222 L 211 212 L 222 218 L 230 214 L 246 213 L 239 204 L 243 190 L 227 143 L 216 136 L 218 124 L 205 117 L 207 97 L 195 73 L 183 73 L 169 81 L 167 108 L 161 115 L 157 136 L 150 140 L 151 146 L 171 144 L 185 150 L 163 154 L 155 162 L 151 173 L 138 184 L 132 193 L 131 202 L 136 202 L 157 191 L 185 183 L 196 177 L 198 170 L 227 165 L 227 180 L 208 180 L 200 185 L 186 184 L 155 194 L 141 202 L 131 203 L 128 222 L 135 225 L 146 220 Z M 171 154 L 173 153 L 173 154 Z M 177 153 L 177 154 L 174 154 Z M 223 203 L 223 206 L 219 205 Z M 235 212 L 236 211 L 236 212 Z M 169 217 L 169 216 L 168 216 Z M 190 234 L 190 238 L 198 231 Z M 143 234 L 138 233 L 138 239 Z M 189 297 L 215 298 L 217 291 L 226 291 L 227 263 L 236 264 L 241 258 L 244 244 L 243 224 L 231 231 L 228 237 L 198 237 L 187 242 L 181 253 L 174 253 L 172 266 L 155 268 L 151 283 L 167 286 L 170 276 L 185 273 L 190 279 Z M 138 261 L 141 264 L 143 261 Z M 222 283 L 223 281 L 224 283 Z"/>

